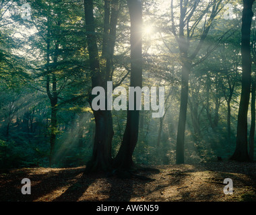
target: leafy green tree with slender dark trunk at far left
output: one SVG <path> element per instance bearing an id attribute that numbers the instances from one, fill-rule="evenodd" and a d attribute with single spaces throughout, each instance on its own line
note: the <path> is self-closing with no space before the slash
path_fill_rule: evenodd
<path id="1" fill-rule="evenodd" d="M 74 97 L 75 92 L 68 93 L 66 89 L 72 89 L 71 85 L 74 85 L 76 76 L 82 79 L 83 65 L 79 60 L 81 58 L 79 50 L 83 44 L 77 43 L 79 29 L 82 29 L 79 26 L 81 24 L 77 22 L 80 14 L 76 11 L 77 3 L 73 5 L 67 4 L 67 1 L 28 1 L 28 3 L 33 13 L 30 21 L 27 22 L 33 31 L 24 37 L 27 46 L 21 49 L 27 53 L 24 71 L 28 76 L 26 80 L 28 87 L 45 93 L 49 99 L 51 112 L 49 163 L 53 165 L 59 134 L 58 112 L 61 106 L 68 103 L 70 97 Z M 71 7 L 72 12 L 70 12 Z M 75 22 L 71 24 L 70 19 Z"/>

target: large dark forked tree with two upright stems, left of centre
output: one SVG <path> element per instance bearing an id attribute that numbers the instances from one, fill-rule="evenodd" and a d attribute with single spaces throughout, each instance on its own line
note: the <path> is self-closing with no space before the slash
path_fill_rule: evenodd
<path id="1" fill-rule="evenodd" d="M 117 28 L 117 17 L 119 12 L 119 1 L 104 1 L 104 34 L 102 42 L 102 58 L 106 60 L 104 67 L 100 67 L 100 56 L 98 52 L 97 37 L 94 22 L 94 4 L 92 0 L 84 0 L 84 11 L 86 15 L 86 38 L 90 58 L 90 73 L 92 78 L 92 89 L 103 87 L 107 93 L 107 81 L 111 80 L 113 67 L 113 54 L 115 48 L 115 37 Z M 108 95 L 105 94 L 105 99 Z M 92 107 L 91 96 L 89 103 Z M 93 110 L 95 118 L 95 138 L 92 159 L 87 164 L 86 171 L 109 171 L 112 168 L 112 139 L 113 119 L 111 110 Z"/>

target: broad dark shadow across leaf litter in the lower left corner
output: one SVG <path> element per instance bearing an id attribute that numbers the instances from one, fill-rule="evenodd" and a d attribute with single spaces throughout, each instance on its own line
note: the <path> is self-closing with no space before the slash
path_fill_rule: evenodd
<path id="1" fill-rule="evenodd" d="M 15 171 L 5 177 L 0 191 L 0 199 L 5 202 L 33 202 L 47 194 L 61 190 L 81 174 L 83 169 L 61 169 L 46 173 L 33 174 L 32 170 Z M 31 194 L 22 194 L 24 184 L 22 179 L 28 178 L 31 182 Z"/>

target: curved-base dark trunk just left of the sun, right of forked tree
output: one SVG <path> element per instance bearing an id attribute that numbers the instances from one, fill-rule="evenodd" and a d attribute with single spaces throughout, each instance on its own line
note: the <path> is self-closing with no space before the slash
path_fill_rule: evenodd
<path id="1" fill-rule="evenodd" d="M 131 87 L 141 87 L 142 85 L 142 6 L 139 0 L 127 0 L 131 19 Z M 115 165 L 121 169 L 131 169 L 133 167 L 133 150 L 137 144 L 139 133 L 139 110 L 136 110 L 136 97 L 134 96 L 134 109 L 127 111 L 127 124 L 123 141 Z"/>

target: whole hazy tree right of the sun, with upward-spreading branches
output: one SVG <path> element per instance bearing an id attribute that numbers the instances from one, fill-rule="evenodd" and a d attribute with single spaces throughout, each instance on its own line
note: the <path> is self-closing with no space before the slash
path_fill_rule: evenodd
<path id="1" fill-rule="evenodd" d="M 174 7 L 173 0 L 171 1 L 171 22 L 172 22 L 172 34 L 179 45 L 179 52 L 181 58 L 181 105 L 179 112 L 179 124 L 177 132 L 177 150 L 176 150 L 176 162 L 184 163 L 184 142 L 185 142 L 185 124 L 187 118 L 187 104 L 189 98 L 189 73 L 195 65 L 199 64 L 202 59 L 205 59 L 210 52 L 207 52 L 205 56 L 202 56 L 201 60 L 194 62 L 199 50 L 201 50 L 205 38 L 210 31 L 214 18 L 220 11 L 221 1 L 210 1 L 202 9 L 203 5 L 200 4 L 201 1 L 189 1 L 181 0 L 179 1 L 179 24 L 178 27 L 174 23 Z M 205 3 L 203 3 L 205 4 Z M 196 15 L 197 11 L 200 11 Z M 209 14 L 210 13 L 210 14 Z M 194 19 L 192 19 L 194 18 Z M 203 21 L 203 18 L 205 21 Z M 199 24 L 203 21 L 203 27 L 201 32 L 197 35 L 199 42 L 192 54 L 189 53 L 191 50 L 191 40 L 195 37 L 197 28 Z"/>

